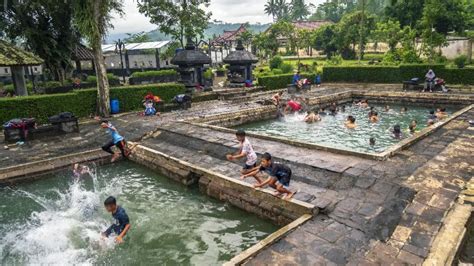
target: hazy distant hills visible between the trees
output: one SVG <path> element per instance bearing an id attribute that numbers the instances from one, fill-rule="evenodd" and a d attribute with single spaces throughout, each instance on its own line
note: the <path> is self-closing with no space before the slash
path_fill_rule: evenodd
<path id="1" fill-rule="evenodd" d="M 213 36 L 222 35 L 224 30 L 236 30 L 240 27 L 241 23 L 209 23 L 209 27 L 204 31 L 204 39 L 212 39 Z M 265 31 L 270 27 L 270 24 L 248 24 L 247 29 L 254 33 Z M 163 34 L 158 29 L 148 32 L 148 36 L 152 41 L 165 41 L 171 39 L 170 37 Z M 107 43 L 112 43 L 118 39 L 124 39 L 127 37 L 126 33 L 110 34 L 107 36 Z"/>

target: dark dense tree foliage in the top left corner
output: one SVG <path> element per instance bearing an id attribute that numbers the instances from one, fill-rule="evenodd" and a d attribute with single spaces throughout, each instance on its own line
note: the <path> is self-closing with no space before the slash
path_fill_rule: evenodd
<path id="1" fill-rule="evenodd" d="M 5 38 L 24 42 L 28 50 L 44 60 L 46 70 L 63 83 L 72 69 L 74 48 L 80 42 L 72 24 L 69 0 L 9 1 L 0 10 Z"/>

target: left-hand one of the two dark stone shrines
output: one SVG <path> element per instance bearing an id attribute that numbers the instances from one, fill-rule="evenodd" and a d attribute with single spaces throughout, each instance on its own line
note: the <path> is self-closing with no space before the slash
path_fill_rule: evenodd
<path id="1" fill-rule="evenodd" d="M 191 39 L 188 39 L 185 49 L 171 59 L 171 63 L 179 67 L 179 82 L 186 87 L 203 86 L 205 65 L 211 62 L 212 60 L 207 54 L 196 50 Z"/>

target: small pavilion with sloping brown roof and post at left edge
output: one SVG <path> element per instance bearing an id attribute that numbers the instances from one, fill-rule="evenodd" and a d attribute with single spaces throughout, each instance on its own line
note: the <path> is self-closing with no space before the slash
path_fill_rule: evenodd
<path id="1" fill-rule="evenodd" d="M 43 60 L 36 55 L 0 40 L 0 66 L 10 67 L 15 94 L 27 96 L 25 66 L 38 66 Z"/>

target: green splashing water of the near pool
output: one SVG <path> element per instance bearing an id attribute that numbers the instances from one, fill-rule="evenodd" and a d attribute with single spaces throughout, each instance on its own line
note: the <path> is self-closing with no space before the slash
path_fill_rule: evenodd
<path id="1" fill-rule="evenodd" d="M 220 265 L 278 229 L 131 162 L 93 176 L 0 188 L 0 264 Z M 109 195 L 130 217 L 121 245 L 100 237 Z"/>

